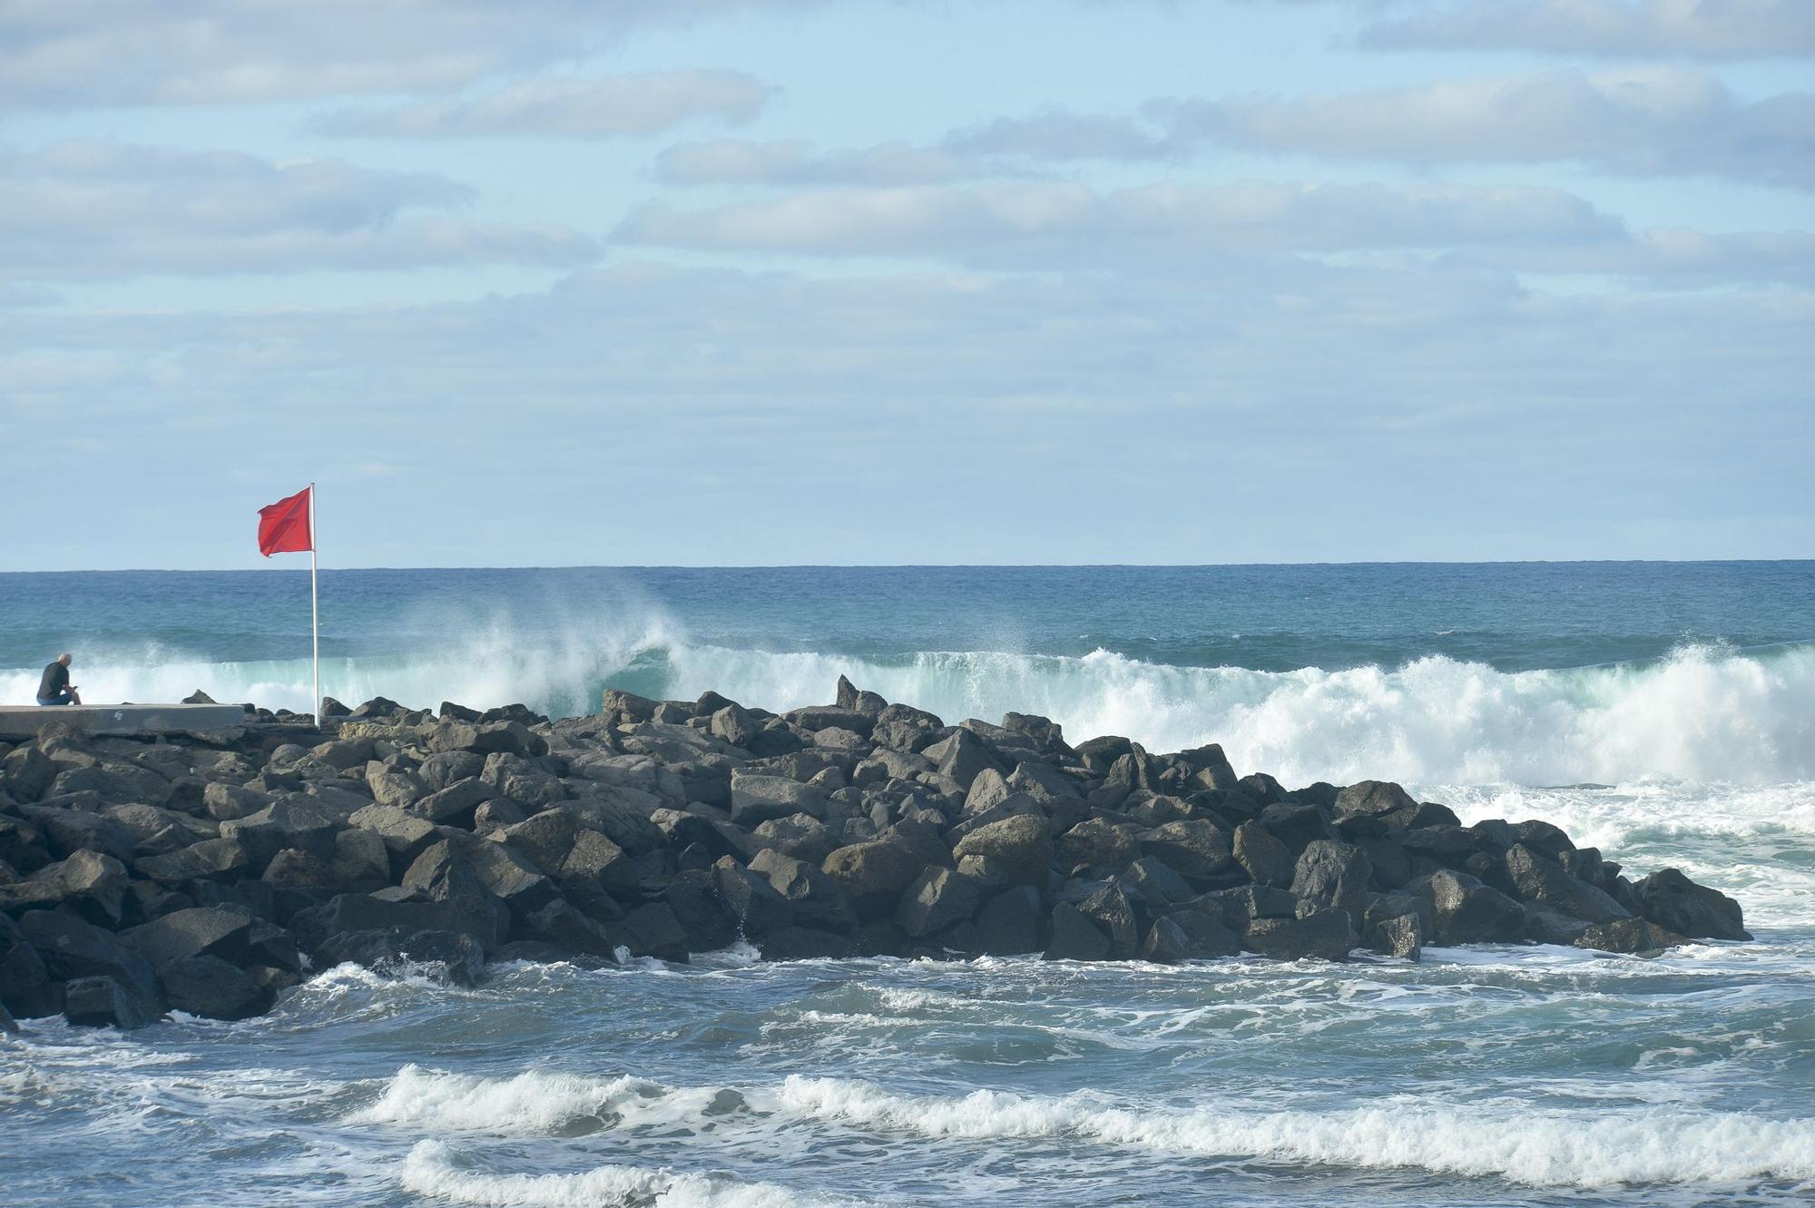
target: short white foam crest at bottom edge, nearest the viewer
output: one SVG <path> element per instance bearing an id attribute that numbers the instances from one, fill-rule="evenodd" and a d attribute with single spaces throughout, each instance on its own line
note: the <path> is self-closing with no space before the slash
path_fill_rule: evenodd
<path id="1" fill-rule="evenodd" d="M 441 1141 L 419 1141 L 403 1159 L 403 1190 L 485 1208 L 819 1208 L 851 1204 L 777 1186 L 733 1183 L 650 1166 L 597 1166 L 581 1174 L 490 1174 L 463 1164 Z"/>

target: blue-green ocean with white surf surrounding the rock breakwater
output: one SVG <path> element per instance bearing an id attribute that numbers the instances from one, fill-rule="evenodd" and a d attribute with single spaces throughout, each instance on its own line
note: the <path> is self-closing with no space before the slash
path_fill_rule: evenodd
<path id="1" fill-rule="evenodd" d="M 1806 1204 L 1815 562 L 323 571 L 323 689 L 1220 742 L 1679 867 L 1751 943 L 1419 965 L 748 949 L 0 1039 L 5 1204 Z M 307 709 L 307 571 L 0 575 L 0 700 Z"/>

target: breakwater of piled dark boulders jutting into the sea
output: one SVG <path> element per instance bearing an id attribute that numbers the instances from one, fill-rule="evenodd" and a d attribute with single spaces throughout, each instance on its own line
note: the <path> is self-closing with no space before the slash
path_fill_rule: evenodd
<path id="1" fill-rule="evenodd" d="M 947 726 L 839 682 L 773 715 L 606 691 L 594 716 L 334 702 L 172 738 L 0 744 L 0 1028 L 240 1019 L 309 970 L 486 961 L 1655 952 L 1750 940 L 1679 871 L 1396 784 L 1285 789 L 1216 745 Z"/>

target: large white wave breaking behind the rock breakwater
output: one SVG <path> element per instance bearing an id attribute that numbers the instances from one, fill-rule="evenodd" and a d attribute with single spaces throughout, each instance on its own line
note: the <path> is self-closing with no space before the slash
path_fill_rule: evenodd
<path id="1" fill-rule="evenodd" d="M 203 662 L 162 651 L 89 658 L 91 700 L 176 698 L 307 707 L 307 662 Z M 1574 784 L 1815 778 L 1815 644 L 1766 651 L 1686 646 L 1668 658 L 1497 671 L 1432 655 L 1399 667 L 1251 671 L 1085 657 L 926 651 L 902 657 L 775 653 L 690 644 L 661 628 L 535 644 L 494 631 L 448 655 L 334 660 L 323 687 L 347 702 L 525 700 L 586 713 L 604 686 L 692 698 L 706 689 L 790 709 L 822 704 L 839 675 L 946 720 L 1044 713 L 1073 738 L 1127 735 L 1171 751 L 1221 742 L 1240 769 L 1289 784 L 1388 776 L 1405 784 Z M 29 700 L 36 671 L 0 671 Z"/>

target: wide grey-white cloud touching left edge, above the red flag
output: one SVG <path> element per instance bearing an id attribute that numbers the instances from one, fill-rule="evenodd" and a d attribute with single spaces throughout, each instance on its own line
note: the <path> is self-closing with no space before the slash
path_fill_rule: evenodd
<path id="1" fill-rule="evenodd" d="M 575 265 L 597 254 L 564 227 L 437 212 L 470 200 L 445 176 L 339 160 L 113 141 L 0 152 L 0 278 Z"/>

